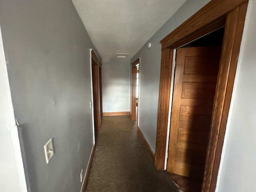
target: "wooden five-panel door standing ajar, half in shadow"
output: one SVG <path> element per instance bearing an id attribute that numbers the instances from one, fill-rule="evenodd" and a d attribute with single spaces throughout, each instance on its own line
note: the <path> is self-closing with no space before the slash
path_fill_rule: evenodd
<path id="1" fill-rule="evenodd" d="M 221 47 L 179 48 L 167 171 L 202 180 Z"/>

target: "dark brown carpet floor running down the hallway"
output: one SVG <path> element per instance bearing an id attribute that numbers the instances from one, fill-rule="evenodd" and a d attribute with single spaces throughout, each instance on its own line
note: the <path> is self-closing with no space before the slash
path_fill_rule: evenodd
<path id="1" fill-rule="evenodd" d="M 103 117 L 86 192 L 177 192 L 157 171 L 130 116 Z"/>

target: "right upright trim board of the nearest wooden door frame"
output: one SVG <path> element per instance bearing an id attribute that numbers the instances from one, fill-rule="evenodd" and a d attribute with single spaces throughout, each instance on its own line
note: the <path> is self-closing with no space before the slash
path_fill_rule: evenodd
<path id="1" fill-rule="evenodd" d="M 234 8 L 228 13 L 226 19 L 219 76 L 212 112 L 212 124 L 206 154 L 203 191 L 214 192 L 216 188 L 247 5 L 247 3 L 244 3 Z"/>

